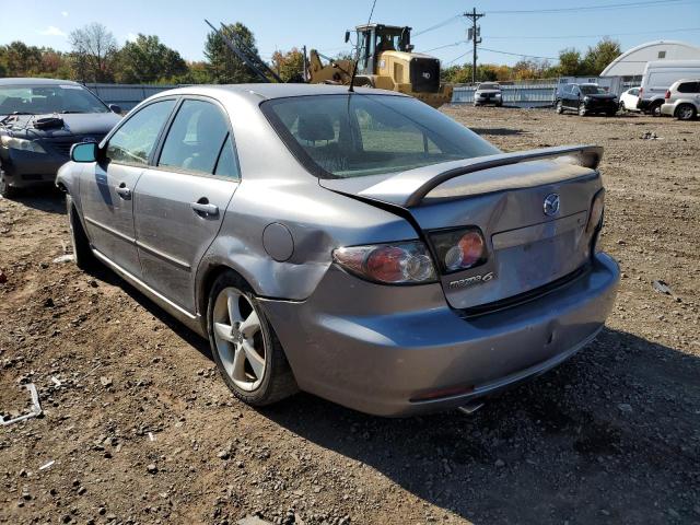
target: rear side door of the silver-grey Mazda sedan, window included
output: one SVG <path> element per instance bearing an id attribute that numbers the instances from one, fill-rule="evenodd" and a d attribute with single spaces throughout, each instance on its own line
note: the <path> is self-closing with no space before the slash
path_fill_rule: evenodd
<path id="1" fill-rule="evenodd" d="M 238 186 L 229 117 L 212 100 L 180 101 L 158 162 L 137 186 L 135 226 L 143 280 L 195 313 L 195 275 Z"/>

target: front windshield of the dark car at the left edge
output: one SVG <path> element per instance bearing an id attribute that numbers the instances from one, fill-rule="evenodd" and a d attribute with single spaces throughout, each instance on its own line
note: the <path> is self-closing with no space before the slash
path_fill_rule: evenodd
<path id="1" fill-rule="evenodd" d="M 81 85 L 1 85 L 0 115 L 108 113 L 100 98 Z"/>

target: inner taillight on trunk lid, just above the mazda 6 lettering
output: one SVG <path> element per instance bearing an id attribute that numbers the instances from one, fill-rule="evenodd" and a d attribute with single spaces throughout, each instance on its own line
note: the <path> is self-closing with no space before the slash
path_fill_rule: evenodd
<path id="1" fill-rule="evenodd" d="M 477 228 L 430 234 L 440 265 L 446 273 L 467 270 L 487 260 L 486 241 Z"/>

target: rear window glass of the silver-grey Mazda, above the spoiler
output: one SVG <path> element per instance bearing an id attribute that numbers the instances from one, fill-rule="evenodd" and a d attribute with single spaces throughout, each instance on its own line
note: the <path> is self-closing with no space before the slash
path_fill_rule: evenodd
<path id="1" fill-rule="evenodd" d="M 406 96 L 312 95 L 261 104 L 314 175 L 361 177 L 500 151 L 442 113 Z"/>

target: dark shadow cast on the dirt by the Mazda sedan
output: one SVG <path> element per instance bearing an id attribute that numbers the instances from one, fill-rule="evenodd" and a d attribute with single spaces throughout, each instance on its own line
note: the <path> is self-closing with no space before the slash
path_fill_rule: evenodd
<path id="1" fill-rule="evenodd" d="M 136 289 L 107 269 L 94 275 L 211 359 L 207 341 Z M 382 419 L 303 393 L 260 413 L 478 525 L 692 523 L 700 521 L 698 377 L 698 358 L 605 329 L 472 416 Z"/>

